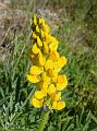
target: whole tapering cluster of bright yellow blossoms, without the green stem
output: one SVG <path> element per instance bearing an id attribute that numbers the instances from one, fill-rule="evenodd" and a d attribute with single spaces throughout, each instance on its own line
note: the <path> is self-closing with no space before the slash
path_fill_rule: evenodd
<path id="1" fill-rule="evenodd" d="M 57 51 L 58 40 L 50 35 L 50 27 L 44 19 L 34 15 L 32 29 L 33 66 L 27 80 L 35 83 L 37 91 L 31 104 L 36 108 L 46 106 L 50 110 L 61 110 L 65 107 L 65 103 L 61 100 L 61 91 L 66 87 L 68 80 L 60 71 L 66 64 L 66 58 Z"/>

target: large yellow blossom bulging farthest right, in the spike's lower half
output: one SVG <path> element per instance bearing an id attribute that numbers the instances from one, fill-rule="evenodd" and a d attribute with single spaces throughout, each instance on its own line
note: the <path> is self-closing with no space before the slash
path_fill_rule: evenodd
<path id="1" fill-rule="evenodd" d="M 57 80 L 57 91 L 62 91 L 63 88 L 65 88 L 68 85 L 68 79 L 65 75 L 58 75 L 58 80 Z"/>

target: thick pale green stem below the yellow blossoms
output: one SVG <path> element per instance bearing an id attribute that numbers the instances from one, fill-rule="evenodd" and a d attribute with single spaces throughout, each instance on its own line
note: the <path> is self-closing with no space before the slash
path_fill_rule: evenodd
<path id="1" fill-rule="evenodd" d="M 44 131 L 46 123 L 48 122 L 49 119 L 49 111 L 44 112 L 41 117 L 41 121 L 39 124 L 39 130 L 38 131 Z"/>

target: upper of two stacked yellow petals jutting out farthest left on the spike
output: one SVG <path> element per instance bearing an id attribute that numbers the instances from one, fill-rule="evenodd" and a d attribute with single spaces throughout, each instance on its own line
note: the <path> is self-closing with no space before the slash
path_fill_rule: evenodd
<path id="1" fill-rule="evenodd" d="M 29 73 L 31 74 L 40 74 L 44 72 L 44 68 L 41 67 L 36 67 L 36 66 L 32 66 L 31 69 L 29 69 Z"/>

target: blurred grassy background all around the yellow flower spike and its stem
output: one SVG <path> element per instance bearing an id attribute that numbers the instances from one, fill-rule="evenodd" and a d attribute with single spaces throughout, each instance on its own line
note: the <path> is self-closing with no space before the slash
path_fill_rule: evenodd
<path id="1" fill-rule="evenodd" d="M 44 17 L 68 58 L 62 111 L 50 115 L 46 131 L 97 131 L 97 0 L 0 0 L 0 131 L 37 131 L 41 109 L 29 105 L 26 81 L 29 20 Z"/>

